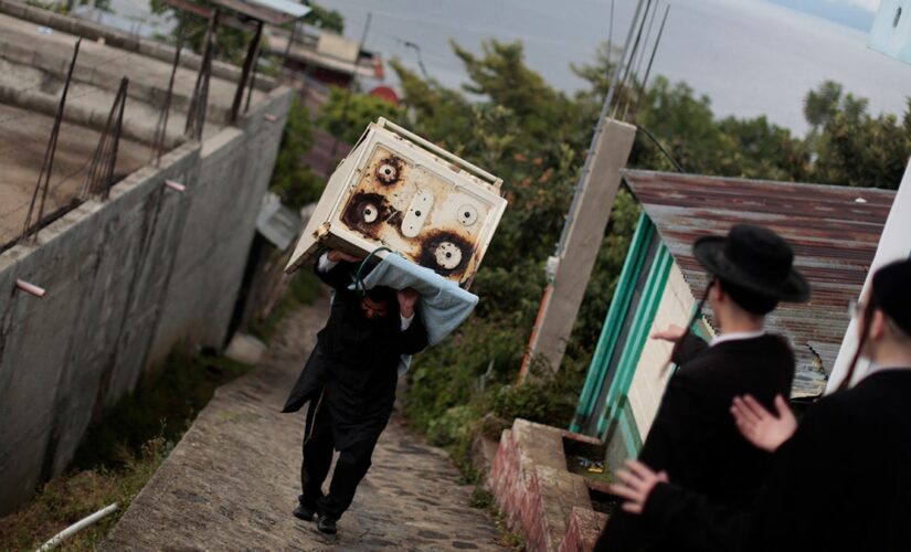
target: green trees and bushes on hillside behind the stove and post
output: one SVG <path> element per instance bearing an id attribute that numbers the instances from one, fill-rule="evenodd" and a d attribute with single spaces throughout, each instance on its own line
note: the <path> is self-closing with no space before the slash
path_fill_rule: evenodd
<path id="1" fill-rule="evenodd" d="M 480 55 L 455 43 L 453 49 L 468 75 L 464 89 L 423 78 L 394 60 L 391 65 L 403 92 L 400 121 L 501 177 L 509 200 L 474 284 L 481 298 L 475 316 L 417 357 L 411 372 L 407 415 L 432 442 L 453 446 L 459 459 L 474 434 L 496 436 L 513 417 L 557 426 L 570 421 L 638 206 L 621 190 L 560 372 L 536 364 L 516 386 L 545 286 L 543 264 L 559 240 L 613 67 L 602 49 L 593 64 L 573 67 L 590 88 L 568 95 L 525 64 L 520 43 L 489 41 Z M 875 117 L 865 99 L 835 83 L 807 94 L 813 130 L 805 138 L 765 117 L 716 117 L 710 99 L 686 83 L 657 77 L 642 97 L 638 91 L 639 83 L 632 83 L 617 95 L 622 104 L 639 104 L 638 124 L 688 172 L 896 188 L 911 153 L 911 105 L 903 119 Z M 363 108 L 343 121 L 329 110 L 320 124 L 350 140 L 378 115 L 393 115 L 358 105 Z M 675 170 L 643 132 L 629 166 Z"/>

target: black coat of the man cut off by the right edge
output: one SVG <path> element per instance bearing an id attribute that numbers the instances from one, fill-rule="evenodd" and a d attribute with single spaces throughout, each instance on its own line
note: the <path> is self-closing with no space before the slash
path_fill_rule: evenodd
<path id="1" fill-rule="evenodd" d="M 876 372 L 814 404 L 775 452 L 749 513 L 675 485 L 645 521 L 705 552 L 911 550 L 911 367 Z"/>

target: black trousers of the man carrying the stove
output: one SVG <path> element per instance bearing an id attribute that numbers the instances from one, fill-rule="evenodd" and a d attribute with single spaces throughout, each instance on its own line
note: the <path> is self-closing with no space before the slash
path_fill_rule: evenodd
<path id="1" fill-rule="evenodd" d="M 332 437 L 332 415 L 321 401 L 310 401 L 307 411 L 307 433 L 304 435 L 304 460 L 300 463 L 300 505 L 308 510 L 339 519 L 351 506 L 358 485 L 370 469 L 370 457 L 381 432 L 375 436 L 359 439 L 339 450 L 329 493 L 322 495 L 322 482 L 332 464 L 335 439 Z"/>

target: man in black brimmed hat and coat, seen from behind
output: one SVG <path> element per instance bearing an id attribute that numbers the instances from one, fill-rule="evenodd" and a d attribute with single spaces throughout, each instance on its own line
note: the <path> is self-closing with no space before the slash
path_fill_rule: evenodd
<path id="1" fill-rule="evenodd" d="M 653 336 L 675 342 L 671 361 L 679 370 L 668 382 L 639 459 L 713 501 L 744 507 L 759 492 L 771 455 L 740 436 L 728 410 L 744 393 L 772 404 L 775 395 L 790 392 L 794 354 L 763 325 L 778 300 L 806 300 L 809 286 L 792 267 L 791 247 L 766 229 L 737 225 L 724 238 L 700 238 L 693 254 L 713 277 L 706 297 L 721 335 L 711 344 L 680 327 Z M 617 509 L 595 550 L 687 549 Z"/>

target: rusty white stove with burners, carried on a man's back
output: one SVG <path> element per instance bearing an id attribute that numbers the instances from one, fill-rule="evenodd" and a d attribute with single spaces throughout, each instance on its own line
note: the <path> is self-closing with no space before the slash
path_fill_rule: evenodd
<path id="1" fill-rule="evenodd" d="M 501 183 L 380 118 L 332 173 L 285 272 L 321 247 L 389 247 L 467 288 L 506 210 Z"/>

